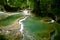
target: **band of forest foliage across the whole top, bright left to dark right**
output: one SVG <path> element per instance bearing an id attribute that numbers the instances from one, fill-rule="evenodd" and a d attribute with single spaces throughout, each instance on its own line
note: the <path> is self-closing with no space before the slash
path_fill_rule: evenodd
<path id="1" fill-rule="evenodd" d="M 42 16 L 46 16 L 48 13 L 60 15 L 59 0 L 0 0 L 0 4 L 8 4 L 11 7 L 32 9 L 35 14 Z"/>

